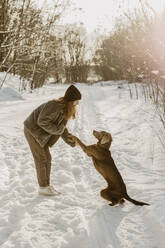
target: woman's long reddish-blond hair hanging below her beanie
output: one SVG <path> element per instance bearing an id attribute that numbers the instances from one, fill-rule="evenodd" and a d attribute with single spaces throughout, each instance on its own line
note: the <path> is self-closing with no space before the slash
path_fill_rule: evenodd
<path id="1" fill-rule="evenodd" d="M 68 121 L 69 119 L 75 119 L 77 108 L 73 105 L 73 101 L 67 102 L 64 97 L 60 97 L 59 99 L 55 99 L 56 102 L 61 103 L 64 106 L 64 118 Z"/>

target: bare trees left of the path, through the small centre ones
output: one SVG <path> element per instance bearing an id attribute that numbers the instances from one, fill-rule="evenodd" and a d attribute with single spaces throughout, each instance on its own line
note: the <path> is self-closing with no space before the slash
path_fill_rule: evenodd
<path id="1" fill-rule="evenodd" d="M 0 71 L 19 75 L 22 87 L 56 82 L 86 81 L 85 34 L 75 25 L 59 25 L 69 1 L 55 0 L 51 11 L 31 0 L 0 2 Z M 0 83 L 0 88 L 5 79 Z"/>

